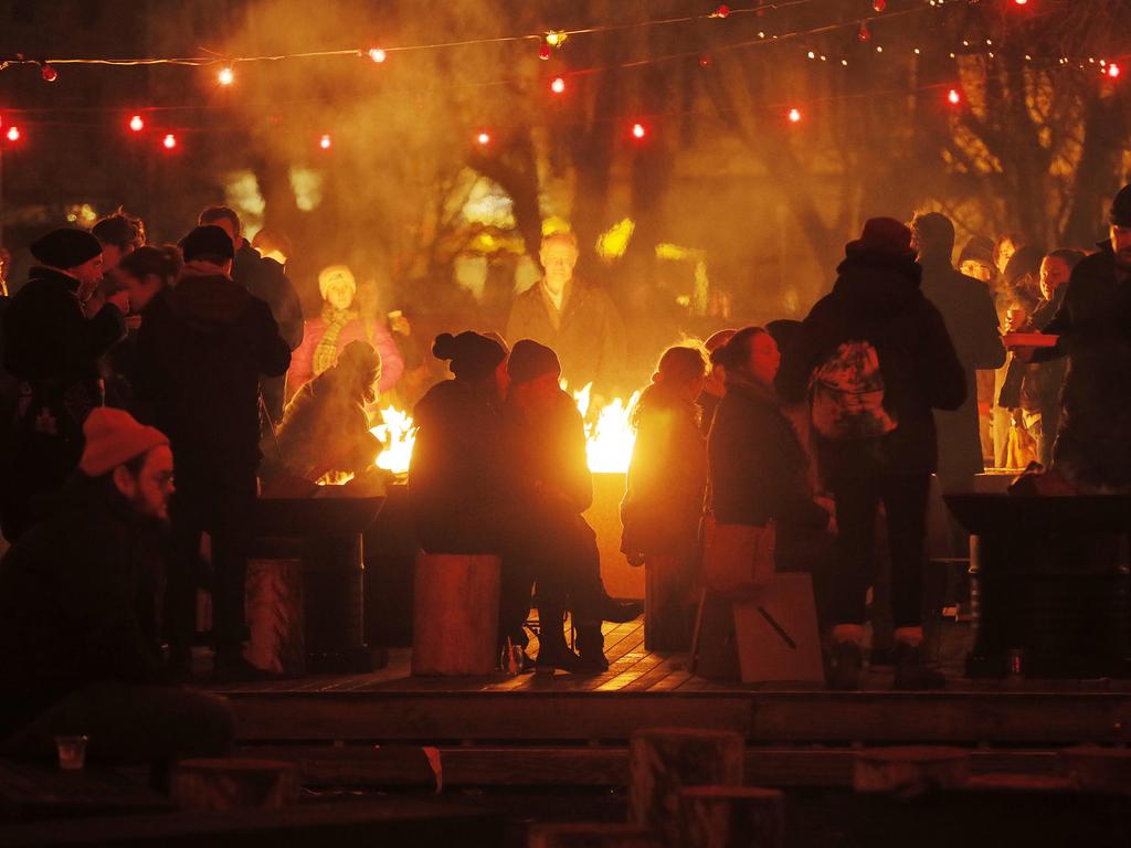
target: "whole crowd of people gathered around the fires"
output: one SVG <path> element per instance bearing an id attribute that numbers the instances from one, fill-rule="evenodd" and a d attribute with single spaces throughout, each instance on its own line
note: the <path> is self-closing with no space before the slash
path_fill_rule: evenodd
<path id="1" fill-rule="evenodd" d="M 932 475 L 957 491 L 1028 457 L 1047 471 L 1033 491 L 1131 488 L 1131 187 L 1108 236 L 1090 256 L 974 239 L 956 269 L 946 216 L 873 218 L 803 321 L 663 352 L 632 410 L 622 503 L 622 551 L 662 611 L 654 647 L 687 647 L 703 583 L 806 571 L 829 683 L 857 687 L 882 516 L 895 685 L 942 685 L 921 650 Z M 264 256 L 231 208 L 205 209 L 175 246 L 145 241 L 121 210 L 53 231 L 31 245 L 27 282 L 0 293 L 6 750 L 42 752 L 81 725 L 132 755 L 113 729 L 127 719 L 162 728 L 150 759 L 224 750 L 223 704 L 175 685 L 193 673 L 198 587 L 217 680 L 261 676 L 243 656 L 261 486 L 372 470 L 378 393 L 428 370 L 403 314 L 379 320 L 348 267 L 322 271 L 323 308 L 304 320 L 290 244 L 265 236 Z M 424 551 L 501 556 L 508 654 L 537 606 L 529 665 L 593 673 L 608 667 L 602 622 L 640 606 L 610 597 L 585 518 L 585 425 L 562 380 L 612 386 L 625 334 L 576 278 L 578 256 L 572 234 L 545 237 L 506 337 L 435 337 L 451 373 L 415 406 L 407 485 Z M 0 253 L 0 280 L 7 267 Z"/>

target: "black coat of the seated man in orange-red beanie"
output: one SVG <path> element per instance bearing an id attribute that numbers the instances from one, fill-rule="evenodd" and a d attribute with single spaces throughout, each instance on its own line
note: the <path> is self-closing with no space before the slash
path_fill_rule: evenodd
<path id="1" fill-rule="evenodd" d="M 104 681 L 161 683 L 153 547 L 129 504 L 77 474 L 0 563 L 0 736 Z"/>

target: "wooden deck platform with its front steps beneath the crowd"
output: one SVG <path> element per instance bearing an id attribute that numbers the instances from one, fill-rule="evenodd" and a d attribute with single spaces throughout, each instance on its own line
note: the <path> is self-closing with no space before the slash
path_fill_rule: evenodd
<path id="1" fill-rule="evenodd" d="M 370 675 L 217 689 L 240 744 L 291 756 L 313 784 L 619 785 L 625 743 L 649 726 L 727 728 L 748 739 L 748 775 L 779 786 L 839 786 L 862 745 L 957 744 L 975 768 L 1051 775 L 1057 747 L 1131 742 L 1131 682 L 957 676 L 944 692 L 893 692 L 890 669 L 861 692 L 705 681 L 685 655 L 644 649 L 639 621 L 608 626 L 607 673 L 414 678 L 395 650 Z M 957 669 L 958 664 L 951 664 Z"/>

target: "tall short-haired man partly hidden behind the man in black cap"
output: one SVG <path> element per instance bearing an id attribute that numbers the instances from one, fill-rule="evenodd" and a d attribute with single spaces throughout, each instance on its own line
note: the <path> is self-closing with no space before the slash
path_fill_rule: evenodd
<path id="1" fill-rule="evenodd" d="M 232 279 L 270 306 L 271 315 L 279 326 L 279 335 L 286 340 L 291 351 L 296 351 L 302 344 L 303 336 L 302 303 L 283 266 L 274 259 L 261 257 L 259 251 L 243 237 L 243 224 L 234 209 L 227 206 L 209 206 L 200 213 L 197 223 L 200 226 L 211 224 L 227 233 L 235 248 Z M 277 425 L 283 419 L 286 374 L 265 378 L 260 386 L 264 404 L 271 416 L 271 422 Z"/>

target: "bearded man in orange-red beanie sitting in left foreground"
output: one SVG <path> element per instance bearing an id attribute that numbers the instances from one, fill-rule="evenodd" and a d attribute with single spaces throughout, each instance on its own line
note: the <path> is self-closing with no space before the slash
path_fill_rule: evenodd
<path id="1" fill-rule="evenodd" d="M 0 749 L 48 759 L 55 736 L 85 735 L 102 762 L 223 755 L 227 707 L 169 685 L 161 663 L 147 552 L 169 521 L 169 440 L 118 409 L 85 432 L 57 509 L 0 563 Z"/>

